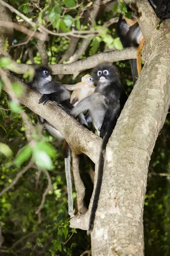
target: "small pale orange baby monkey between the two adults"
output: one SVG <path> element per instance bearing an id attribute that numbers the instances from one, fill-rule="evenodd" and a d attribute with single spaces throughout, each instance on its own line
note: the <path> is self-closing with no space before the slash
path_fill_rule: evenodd
<path id="1" fill-rule="evenodd" d="M 67 90 L 73 91 L 70 97 L 71 104 L 77 104 L 80 100 L 90 96 L 94 93 L 94 90 L 96 88 L 94 86 L 93 77 L 88 74 L 82 77 L 81 82 L 73 85 L 65 85 L 65 87 Z"/>

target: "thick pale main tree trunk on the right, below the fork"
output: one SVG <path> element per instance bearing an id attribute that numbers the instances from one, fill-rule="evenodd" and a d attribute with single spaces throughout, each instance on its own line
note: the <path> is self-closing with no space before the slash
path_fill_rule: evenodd
<path id="1" fill-rule="evenodd" d="M 154 35 L 152 52 L 108 143 L 91 233 L 93 256 L 144 255 L 143 207 L 148 165 L 170 107 L 168 31 L 169 24 Z"/>

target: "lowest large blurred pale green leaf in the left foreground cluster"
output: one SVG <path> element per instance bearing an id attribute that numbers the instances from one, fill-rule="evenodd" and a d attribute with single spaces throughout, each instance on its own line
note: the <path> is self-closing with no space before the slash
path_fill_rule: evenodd
<path id="1" fill-rule="evenodd" d="M 37 150 L 35 147 L 32 156 L 37 166 L 40 166 L 42 169 L 53 169 L 53 163 L 51 161 L 51 158 L 45 151 Z"/>

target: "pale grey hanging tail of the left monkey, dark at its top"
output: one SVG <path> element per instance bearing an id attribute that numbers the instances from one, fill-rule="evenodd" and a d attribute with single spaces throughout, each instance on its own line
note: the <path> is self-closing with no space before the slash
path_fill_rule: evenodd
<path id="1" fill-rule="evenodd" d="M 73 215 L 73 195 L 72 195 L 72 182 L 71 182 L 71 149 L 66 142 L 63 143 L 63 155 L 65 162 L 65 177 L 67 182 L 67 193 L 68 193 L 68 214 Z"/>

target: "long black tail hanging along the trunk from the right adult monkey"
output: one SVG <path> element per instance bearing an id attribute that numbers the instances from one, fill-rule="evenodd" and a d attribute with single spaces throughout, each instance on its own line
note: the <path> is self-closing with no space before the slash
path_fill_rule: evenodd
<path id="1" fill-rule="evenodd" d="M 111 137 L 111 134 L 113 132 L 115 125 L 116 125 L 116 119 L 114 118 L 111 120 L 111 122 L 108 126 L 107 133 L 105 134 L 105 137 L 103 138 L 103 141 L 102 141 L 102 147 L 101 147 L 101 151 L 99 154 L 99 168 L 98 168 L 98 173 L 97 173 L 96 189 L 94 192 L 94 199 L 93 199 L 93 204 L 92 204 L 92 208 L 91 208 L 91 215 L 90 215 L 90 221 L 89 221 L 87 235 L 89 235 L 92 232 L 93 227 L 94 227 L 94 219 L 95 219 L 95 215 L 96 215 L 100 190 L 101 190 L 101 186 L 102 186 L 106 146 L 108 144 L 108 140 Z"/>

